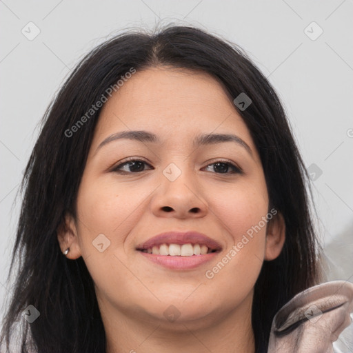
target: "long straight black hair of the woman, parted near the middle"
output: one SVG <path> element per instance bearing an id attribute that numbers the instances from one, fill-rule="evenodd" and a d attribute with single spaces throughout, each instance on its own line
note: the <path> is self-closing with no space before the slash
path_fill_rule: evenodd
<path id="1" fill-rule="evenodd" d="M 43 117 L 22 182 L 10 274 L 17 261 L 19 265 L 1 335 L 6 347 L 20 321 L 21 353 L 105 352 L 92 278 L 82 258 L 70 261 L 61 254 L 57 240 L 65 214 L 76 216 L 77 192 L 101 108 L 91 112 L 79 131 L 68 134 L 68 130 L 131 68 L 159 65 L 202 70 L 220 80 L 233 99 L 245 92 L 252 100 L 238 112 L 259 151 L 270 205 L 283 214 L 286 225 L 280 256 L 263 263 L 254 288 L 252 328 L 257 353 L 267 352 L 277 310 L 317 283 L 318 244 L 310 216 L 309 179 L 274 88 L 241 48 L 198 28 L 128 31 L 84 57 Z M 40 312 L 30 324 L 21 319 L 28 305 Z"/>

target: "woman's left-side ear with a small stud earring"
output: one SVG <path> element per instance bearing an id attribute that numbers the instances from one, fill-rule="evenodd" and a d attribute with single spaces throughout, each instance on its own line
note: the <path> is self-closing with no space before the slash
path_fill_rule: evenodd
<path id="1" fill-rule="evenodd" d="M 68 259 L 76 260 L 81 256 L 81 248 L 79 245 L 79 237 L 77 236 L 77 225 L 71 214 L 65 215 L 65 220 L 57 230 L 57 238 L 61 248 L 61 252 L 70 248 L 66 255 Z"/>

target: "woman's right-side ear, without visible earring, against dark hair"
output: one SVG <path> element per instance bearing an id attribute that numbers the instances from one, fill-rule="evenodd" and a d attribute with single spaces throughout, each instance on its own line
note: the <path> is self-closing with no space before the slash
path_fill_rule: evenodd
<path id="1" fill-rule="evenodd" d="M 271 261 L 281 254 L 285 241 L 285 221 L 281 213 L 276 213 L 266 229 L 265 260 Z"/>

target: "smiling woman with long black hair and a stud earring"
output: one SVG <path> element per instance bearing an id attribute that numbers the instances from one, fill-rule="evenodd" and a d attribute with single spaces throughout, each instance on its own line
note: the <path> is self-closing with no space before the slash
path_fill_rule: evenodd
<path id="1" fill-rule="evenodd" d="M 321 308 L 316 288 L 299 294 L 319 283 L 306 182 L 239 48 L 183 26 L 114 37 L 44 118 L 3 341 L 21 316 L 20 352 L 299 352 L 283 337 Z M 333 285 L 331 312 L 351 309 Z"/>

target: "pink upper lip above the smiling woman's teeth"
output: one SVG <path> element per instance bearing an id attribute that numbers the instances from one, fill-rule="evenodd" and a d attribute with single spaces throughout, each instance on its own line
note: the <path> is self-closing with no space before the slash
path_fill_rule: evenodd
<path id="1" fill-rule="evenodd" d="M 199 244 L 199 245 L 206 245 L 210 250 L 221 250 L 221 245 L 211 239 L 205 234 L 188 231 L 188 232 L 165 232 L 153 236 L 152 238 L 145 241 L 137 246 L 137 250 L 146 250 L 152 249 L 154 246 L 159 246 L 162 244 Z"/>

